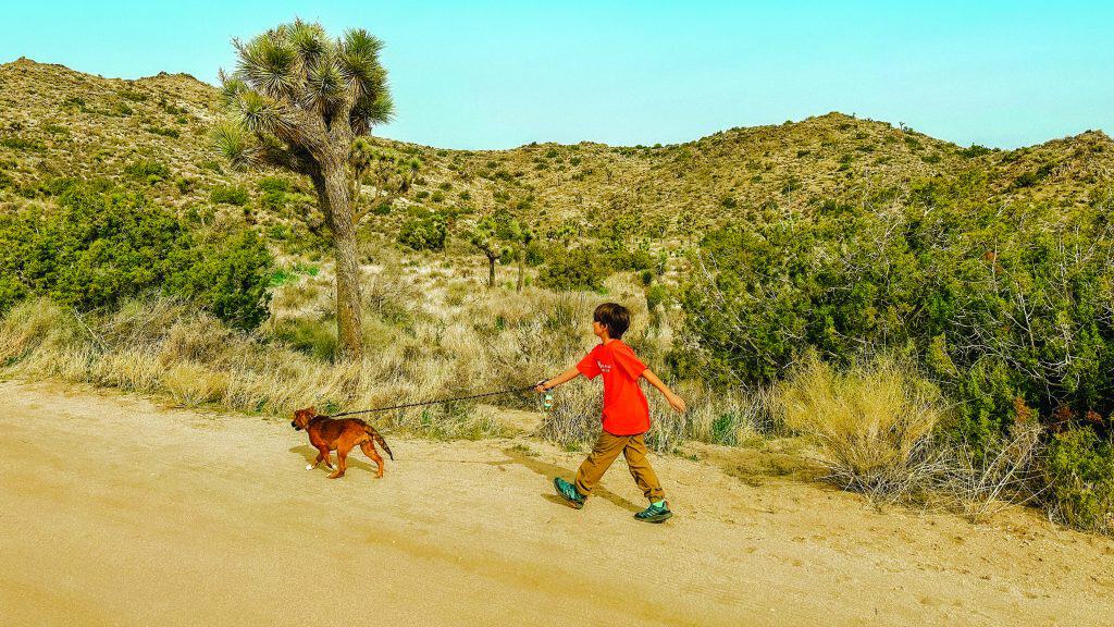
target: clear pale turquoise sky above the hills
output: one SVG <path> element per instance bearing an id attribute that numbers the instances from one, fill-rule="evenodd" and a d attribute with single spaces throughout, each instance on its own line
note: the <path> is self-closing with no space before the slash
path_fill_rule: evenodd
<path id="1" fill-rule="evenodd" d="M 294 16 L 387 41 L 398 117 L 434 146 L 685 142 L 854 113 L 956 142 L 1114 133 L 1114 2 L 6 2 L 0 61 L 216 81 Z"/>

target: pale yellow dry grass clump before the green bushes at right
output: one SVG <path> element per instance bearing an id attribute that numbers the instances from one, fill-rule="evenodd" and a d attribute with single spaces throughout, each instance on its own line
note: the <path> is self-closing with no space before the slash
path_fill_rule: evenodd
<path id="1" fill-rule="evenodd" d="M 846 489 L 895 499 L 929 483 L 924 452 L 946 408 L 911 369 L 877 358 L 838 373 L 812 357 L 774 387 L 773 403 Z"/>

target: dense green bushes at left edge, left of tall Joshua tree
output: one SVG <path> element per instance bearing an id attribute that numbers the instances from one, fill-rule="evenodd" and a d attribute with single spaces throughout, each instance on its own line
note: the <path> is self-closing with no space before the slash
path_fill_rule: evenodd
<path id="1" fill-rule="evenodd" d="M 271 266 L 255 233 L 201 238 L 133 192 L 70 182 L 55 205 L 0 215 L 0 311 L 30 296 L 88 310 L 154 290 L 253 328 Z"/>

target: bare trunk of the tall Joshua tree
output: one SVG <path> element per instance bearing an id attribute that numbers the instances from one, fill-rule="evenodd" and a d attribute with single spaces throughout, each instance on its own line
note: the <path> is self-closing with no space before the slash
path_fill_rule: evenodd
<path id="1" fill-rule="evenodd" d="M 349 181 L 343 162 L 322 167 L 314 176 L 314 186 L 322 213 L 328 216 L 333 233 L 336 269 L 336 339 L 338 357 L 348 361 L 363 358 L 363 325 L 361 319 L 360 260 L 356 224 L 349 194 Z"/>

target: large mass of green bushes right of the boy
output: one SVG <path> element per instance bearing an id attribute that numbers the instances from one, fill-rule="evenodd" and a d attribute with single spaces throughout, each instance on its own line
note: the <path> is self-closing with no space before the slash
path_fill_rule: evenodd
<path id="1" fill-rule="evenodd" d="M 674 361 L 769 383 L 809 349 L 847 365 L 889 347 L 935 373 L 978 445 L 1013 424 L 1015 398 L 1045 421 L 1061 406 L 1108 415 L 1114 226 L 1098 205 L 987 205 L 986 184 L 934 180 L 902 211 L 841 205 L 709 232 L 680 290 Z"/>

